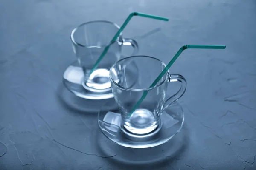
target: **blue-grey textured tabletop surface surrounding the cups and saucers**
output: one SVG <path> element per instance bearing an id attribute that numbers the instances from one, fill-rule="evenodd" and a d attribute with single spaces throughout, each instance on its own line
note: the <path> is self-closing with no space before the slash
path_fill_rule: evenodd
<path id="1" fill-rule="evenodd" d="M 95 113 L 104 101 L 77 99 L 61 83 L 76 59 L 71 30 L 121 25 L 133 11 L 169 18 L 131 20 L 123 34 L 140 54 L 167 63 L 184 44 L 227 45 L 177 59 L 185 125 L 142 150 L 106 139 Z M 256 170 L 255 30 L 255 0 L 0 0 L 0 169 Z"/>

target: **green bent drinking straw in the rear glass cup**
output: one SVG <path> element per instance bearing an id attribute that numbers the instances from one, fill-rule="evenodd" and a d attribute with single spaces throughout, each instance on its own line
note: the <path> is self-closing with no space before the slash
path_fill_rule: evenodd
<path id="1" fill-rule="evenodd" d="M 123 31 L 123 29 L 125 28 L 125 26 L 128 24 L 128 22 L 131 20 L 131 18 L 133 16 L 140 16 L 140 17 L 147 17 L 147 18 L 152 18 L 152 19 L 156 19 L 156 20 L 163 20 L 163 21 L 168 21 L 168 18 L 165 17 L 159 17 L 159 16 L 155 16 L 155 15 L 150 15 L 150 14 L 143 14 L 140 12 L 132 12 L 127 19 L 125 20 L 125 22 L 122 24 L 122 26 L 120 27 L 120 29 L 116 32 L 115 36 L 112 38 L 111 42 L 115 41 L 120 33 Z M 105 56 L 105 54 L 108 52 L 108 49 L 110 48 L 111 42 L 108 46 L 105 47 L 104 51 L 102 52 L 102 54 L 99 56 L 99 58 L 97 59 L 96 63 L 93 65 L 93 68 L 90 71 L 90 74 L 93 73 L 93 71 L 98 67 L 99 62 L 103 59 L 103 57 Z"/>

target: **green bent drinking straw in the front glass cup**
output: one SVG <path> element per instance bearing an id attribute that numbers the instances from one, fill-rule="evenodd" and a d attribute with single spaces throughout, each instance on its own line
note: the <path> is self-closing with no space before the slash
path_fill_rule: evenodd
<path id="1" fill-rule="evenodd" d="M 184 45 L 182 46 L 179 51 L 175 54 L 175 56 L 171 59 L 171 61 L 166 65 L 166 67 L 163 69 L 163 71 L 159 74 L 157 79 L 154 80 L 154 82 L 151 84 L 151 87 L 154 87 L 157 82 L 163 77 L 164 74 L 169 70 L 169 68 L 172 66 L 172 64 L 175 62 L 175 60 L 180 56 L 182 51 L 188 49 L 188 48 L 196 48 L 196 49 L 225 49 L 225 45 Z M 133 109 L 130 112 L 131 114 L 136 110 L 136 108 L 141 104 L 141 102 L 145 99 L 147 96 L 148 91 L 144 91 L 142 97 L 139 99 L 139 101 L 134 105 Z"/>

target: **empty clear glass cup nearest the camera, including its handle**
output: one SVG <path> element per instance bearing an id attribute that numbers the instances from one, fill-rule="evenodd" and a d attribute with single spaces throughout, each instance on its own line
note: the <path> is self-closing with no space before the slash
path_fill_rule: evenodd
<path id="1" fill-rule="evenodd" d="M 124 133 L 147 135 L 158 131 L 157 128 L 161 127 L 161 113 L 184 94 L 186 80 L 181 75 L 169 74 L 169 71 L 157 85 L 149 88 L 165 67 L 159 59 L 148 56 L 121 59 L 111 67 L 111 87 L 121 111 L 121 129 Z M 138 75 L 134 85 L 131 85 L 134 82 L 126 79 L 132 71 L 137 71 Z M 181 87 L 176 94 L 166 99 L 169 82 L 181 82 Z M 144 92 L 147 93 L 145 99 L 131 113 Z"/>

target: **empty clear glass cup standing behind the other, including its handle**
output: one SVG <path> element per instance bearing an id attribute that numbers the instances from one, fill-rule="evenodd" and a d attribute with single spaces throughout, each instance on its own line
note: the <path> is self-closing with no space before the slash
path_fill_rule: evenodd
<path id="1" fill-rule="evenodd" d="M 123 38 L 122 33 L 111 42 L 118 30 L 119 26 L 109 21 L 90 21 L 81 24 L 71 33 L 73 51 L 84 73 L 82 85 L 88 91 L 99 94 L 111 91 L 109 69 L 121 58 L 122 45 L 134 47 L 133 54 L 138 51 L 137 42 Z M 90 74 L 93 65 L 108 45 L 110 45 L 108 52 Z"/>

